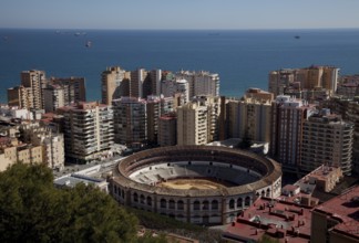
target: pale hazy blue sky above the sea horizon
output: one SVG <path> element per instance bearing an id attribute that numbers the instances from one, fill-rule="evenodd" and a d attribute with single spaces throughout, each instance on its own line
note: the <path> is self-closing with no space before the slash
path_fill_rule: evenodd
<path id="1" fill-rule="evenodd" d="M 359 28 L 359 0 L 1 0 L 0 28 Z"/>

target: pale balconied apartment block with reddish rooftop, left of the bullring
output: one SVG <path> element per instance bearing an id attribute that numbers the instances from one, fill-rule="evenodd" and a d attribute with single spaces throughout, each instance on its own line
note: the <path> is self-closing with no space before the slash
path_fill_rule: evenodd
<path id="1" fill-rule="evenodd" d="M 111 106 L 78 103 L 58 109 L 63 115 L 65 158 L 69 162 L 85 163 L 106 155 L 114 144 Z"/>

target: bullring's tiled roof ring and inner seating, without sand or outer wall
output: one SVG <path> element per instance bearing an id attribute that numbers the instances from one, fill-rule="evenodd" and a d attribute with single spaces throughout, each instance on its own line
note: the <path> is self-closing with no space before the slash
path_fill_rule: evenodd
<path id="1" fill-rule="evenodd" d="M 188 166 L 193 167 L 191 171 Z M 212 167 L 217 169 L 208 172 L 207 169 Z M 224 169 L 226 167 L 230 170 Z M 147 173 L 150 168 L 151 172 Z M 230 177 L 232 182 L 239 186 L 224 187 L 218 190 L 182 190 L 154 186 L 158 178 L 180 178 L 180 175 L 185 175 L 185 171 L 187 173 L 189 171 L 193 177 L 206 175 L 209 178 L 215 178 L 216 172 L 219 178 L 224 178 L 225 173 L 227 180 Z M 279 163 L 252 152 L 217 146 L 168 146 L 141 151 L 123 159 L 117 170 L 113 171 L 112 181 L 124 189 L 162 196 L 216 197 L 253 193 L 271 186 L 280 178 Z M 245 183 L 247 180 L 252 182 Z"/>

